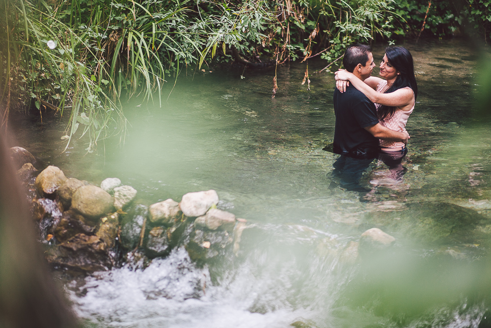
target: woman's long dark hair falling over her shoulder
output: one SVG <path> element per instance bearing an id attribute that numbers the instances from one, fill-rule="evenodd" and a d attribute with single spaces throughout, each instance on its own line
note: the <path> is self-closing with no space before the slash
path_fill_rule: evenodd
<path id="1" fill-rule="evenodd" d="M 409 87 L 414 91 L 414 101 L 418 96 L 418 86 L 414 75 L 414 63 L 411 53 L 404 47 L 387 47 L 385 55 L 389 64 L 399 71 L 394 84 L 384 93 L 390 93 L 398 89 Z M 382 105 L 377 111 L 380 121 L 391 119 L 396 111 L 396 107 Z"/>

